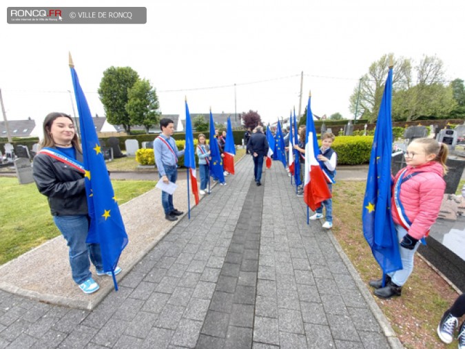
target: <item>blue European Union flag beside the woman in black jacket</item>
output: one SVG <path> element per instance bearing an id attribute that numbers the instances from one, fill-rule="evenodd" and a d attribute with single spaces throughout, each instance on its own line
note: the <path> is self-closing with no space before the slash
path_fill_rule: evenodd
<path id="1" fill-rule="evenodd" d="M 81 141 L 85 168 L 85 192 L 90 216 L 90 228 L 87 243 L 100 243 L 103 270 L 112 272 L 115 290 L 118 284 L 114 277 L 114 269 L 118 264 L 121 252 L 127 245 L 127 234 L 123 218 L 119 212 L 114 195 L 110 175 L 108 175 L 105 159 L 97 138 L 92 114 L 87 99 L 79 84 L 79 79 L 70 63 L 74 96 L 81 125 Z"/>

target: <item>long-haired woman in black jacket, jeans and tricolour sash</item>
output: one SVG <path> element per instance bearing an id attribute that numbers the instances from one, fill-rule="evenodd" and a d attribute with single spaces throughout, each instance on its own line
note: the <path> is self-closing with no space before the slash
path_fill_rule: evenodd
<path id="1" fill-rule="evenodd" d="M 99 290 L 92 279 L 90 261 L 97 275 L 103 272 L 100 245 L 86 243 L 89 230 L 83 154 L 70 115 L 52 112 L 43 121 L 41 150 L 34 157 L 34 181 L 48 197 L 54 223 L 68 242 L 72 278 L 84 293 Z M 90 261 L 89 261 L 90 259 Z M 116 267 L 114 274 L 121 272 Z"/>

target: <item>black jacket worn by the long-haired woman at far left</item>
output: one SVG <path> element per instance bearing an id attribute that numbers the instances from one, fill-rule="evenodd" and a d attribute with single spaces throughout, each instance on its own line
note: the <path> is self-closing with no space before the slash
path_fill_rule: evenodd
<path id="1" fill-rule="evenodd" d="M 77 161 L 83 155 L 76 150 Z M 47 154 L 34 157 L 32 175 L 41 194 L 48 197 L 53 216 L 87 215 L 84 175 Z"/>

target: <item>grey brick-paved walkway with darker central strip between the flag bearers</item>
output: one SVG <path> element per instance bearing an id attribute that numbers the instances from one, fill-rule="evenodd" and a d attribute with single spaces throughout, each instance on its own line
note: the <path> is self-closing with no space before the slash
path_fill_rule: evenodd
<path id="1" fill-rule="evenodd" d="M 252 174 L 245 157 L 94 310 L 0 291 L 0 348 L 402 348 L 280 164 Z"/>

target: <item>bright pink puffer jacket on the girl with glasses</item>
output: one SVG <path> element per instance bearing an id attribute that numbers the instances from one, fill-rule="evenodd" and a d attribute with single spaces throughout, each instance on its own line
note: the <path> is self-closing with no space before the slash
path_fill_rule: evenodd
<path id="1" fill-rule="evenodd" d="M 400 202 L 404 206 L 404 212 L 411 221 L 409 235 L 415 239 L 422 239 L 433 226 L 433 223 L 439 215 L 446 182 L 443 177 L 443 168 L 441 163 L 430 161 L 422 166 L 407 166 L 403 178 L 411 175 L 413 172 L 422 172 L 404 181 L 400 186 Z M 402 171 L 397 172 L 394 186 Z M 397 215 L 395 215 L 394 197 L 391 200 L 394 223 L 400 224 Z"/>

